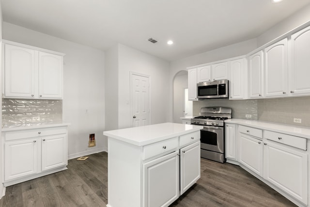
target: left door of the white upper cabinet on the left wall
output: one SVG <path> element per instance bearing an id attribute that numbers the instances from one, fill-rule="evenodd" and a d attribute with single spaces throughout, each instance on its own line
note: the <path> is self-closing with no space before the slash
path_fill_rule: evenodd
<path id="1" fill-rule="evenodd" d="M 35 94 L 36 52 L 4 45 L 5 97 L 33 97 Z"/>

